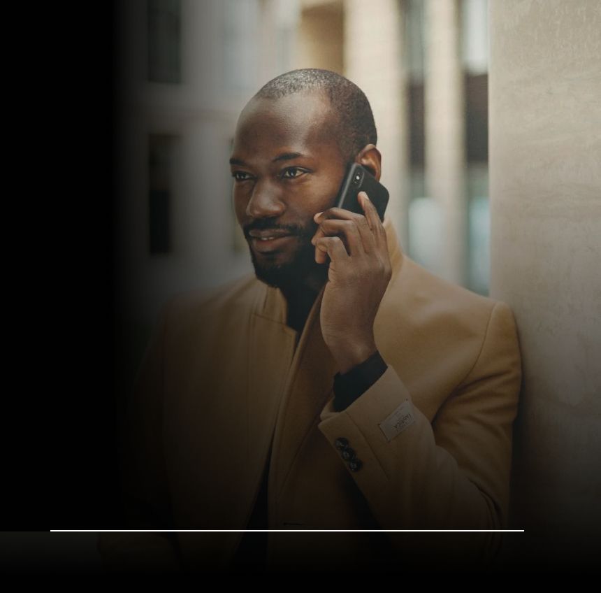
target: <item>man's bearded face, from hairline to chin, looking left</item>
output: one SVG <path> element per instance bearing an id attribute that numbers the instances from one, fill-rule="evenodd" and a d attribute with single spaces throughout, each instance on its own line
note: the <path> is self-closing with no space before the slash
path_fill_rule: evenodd
<path id="1" fill-rule="evenodd" d="M 314 214 L 335 205 L 345 174 L 328 133 L 331 117 L 321 94 L 295 93 L 252 99 L 238 120 L 230 159 L 236 217 L 256 276 L 269 285 L 320 285 L 327 278 L 311 238 Z"/>

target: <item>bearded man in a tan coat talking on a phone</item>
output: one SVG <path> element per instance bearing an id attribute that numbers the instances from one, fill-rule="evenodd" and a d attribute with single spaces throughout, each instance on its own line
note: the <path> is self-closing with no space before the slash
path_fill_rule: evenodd
<path id="1" fill-rule="evenodd" d="M 505 304 L 417 266 L 365 194 L 362 214 L 334 207 L 350 162 L 380 178 L 376 142 L 363 92 L 328 71 L 285 73 L 242 110 L 233 200 L 255 273 L 164 308 L 124 491 L 138 527 L 275 531 L 103 534 L 108 568 L 358 571 L 498 551 L 493 532 L 382 531 L 506 527 L 521 374 Z"/>

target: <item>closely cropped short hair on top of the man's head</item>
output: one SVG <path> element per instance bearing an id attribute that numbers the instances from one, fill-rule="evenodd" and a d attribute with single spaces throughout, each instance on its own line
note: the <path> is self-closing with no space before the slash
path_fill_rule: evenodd
<path id="1" fill-rule="evenodd" d="M 263 85 L 254 97 L 280 99 L 312 90 L 328 97 L 337 116 L 333 132 L 345 162 L 352 162 L 365 145 L 376 144 L 377 131 L 368 98 L 355 83 L 338 73 L 319 68 L 291 70 Z"/>

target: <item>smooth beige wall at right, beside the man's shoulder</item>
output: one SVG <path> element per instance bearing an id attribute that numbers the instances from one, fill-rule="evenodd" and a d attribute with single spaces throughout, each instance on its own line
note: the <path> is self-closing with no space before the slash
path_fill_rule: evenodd
<path id="1" fill-rule="evenodd" d="M 524 371 L 512 527 L 578 559 L 601 525 L 601 2 L 489 16 L 491 295 Z"/>

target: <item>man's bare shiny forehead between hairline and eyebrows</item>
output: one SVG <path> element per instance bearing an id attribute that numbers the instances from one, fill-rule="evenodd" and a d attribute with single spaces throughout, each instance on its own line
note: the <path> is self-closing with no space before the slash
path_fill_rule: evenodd
<path id="1" fill-rule="evenodd" d="M 279 99 L 249 101 L 242 110 L 233 152 L 265 155 L 282 148 L 312 152 L 336 145 L 331 134 L 334 115 L 330 103 L 319 92 L 302 92 Z"/>

